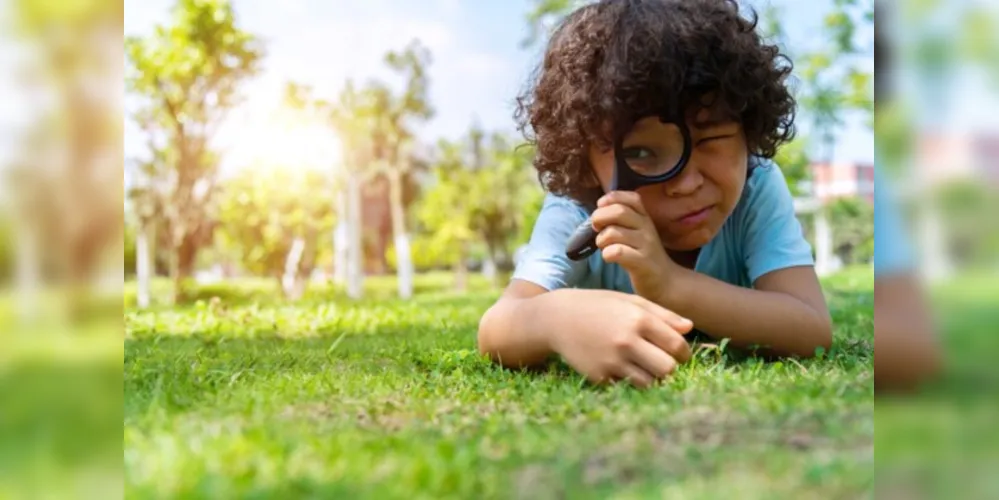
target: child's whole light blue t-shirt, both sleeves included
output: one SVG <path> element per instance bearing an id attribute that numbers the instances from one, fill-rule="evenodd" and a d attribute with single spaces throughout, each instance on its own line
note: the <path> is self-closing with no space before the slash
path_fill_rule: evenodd
<path id="1" fill-rule="evenodd" d="M 814 265 L 812 248 L 794 214 L 784 174 L 772 161 L 752 157 L 742 197 L 713 240 L 701 248 L 694 270 L 751 288 L 778 269 Z M 547 290 L 589 288 L 634 293 L 627 271 L 596 252 L 582 261 L 565 255 L 575 228 L 589 216 L 577 202 L 548 194 L 513 279 Z"/>

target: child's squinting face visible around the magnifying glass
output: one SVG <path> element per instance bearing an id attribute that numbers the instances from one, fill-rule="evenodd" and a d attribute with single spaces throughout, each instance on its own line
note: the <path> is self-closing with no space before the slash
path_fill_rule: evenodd
<path id="1" fill-rule="evenodd" d="M 638 189 L 663 246 L 675 251 L 700 248 L 718 234 L 742 196 L 747 173 L 746 138 L 738 122 L 719 119 L 705 109 L 691 116 L 687 126 L 693 151 L 683 172 Z M 625 151 L 661 150 L 670 137 L 667 127 L 656 117 L 639 121 L 625 138 Z M 591 147 L 590 165 L 608 191 L 614 151 Z"/>

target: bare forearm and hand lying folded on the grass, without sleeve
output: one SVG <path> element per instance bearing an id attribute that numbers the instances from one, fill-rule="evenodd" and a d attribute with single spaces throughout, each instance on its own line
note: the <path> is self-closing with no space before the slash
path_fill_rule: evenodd
<path id="1" fill-rule="evenodd" d="M 479 349 L 508 367 L 551 354 L 593 382 L 644 387 L 690 359 L 683 334 L 693 323 L 637 295 L 564 288 L 544 292 L 514 280 L 483 315 Z"/>

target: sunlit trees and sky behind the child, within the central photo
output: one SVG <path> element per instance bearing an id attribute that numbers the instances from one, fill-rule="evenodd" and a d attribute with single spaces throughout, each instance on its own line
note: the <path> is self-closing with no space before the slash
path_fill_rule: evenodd
<path id="1" fill-rule="evenodd" d="M 470 274 L 501 286 L 543 192 L 513 127 L 579 3 L 142 2 L 125 16 L 126 304 L 269 280 L 290 300 Z M 747 5 L 749 7 L 749 5 Z M 874 252 L 871 2 L 768 2 L 797 62 L 781 154 L 823 273 Z M 821 33 L 821 35 L 817 35 Z"/>

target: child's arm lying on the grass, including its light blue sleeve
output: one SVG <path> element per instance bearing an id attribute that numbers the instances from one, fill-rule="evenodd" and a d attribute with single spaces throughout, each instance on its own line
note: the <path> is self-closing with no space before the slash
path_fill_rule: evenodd
<path id="1" fill-rule="evenodd" d="M 649 385 L 690 359 L 692 323 L 639 296 L 570 288 L 586 263 L 569 261 L 565 242 L 585 218 L 547 198 L 514 279 L 479 322 L 479 350 L 513 368 L 557 353 L 591 381 Z"/>

